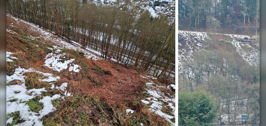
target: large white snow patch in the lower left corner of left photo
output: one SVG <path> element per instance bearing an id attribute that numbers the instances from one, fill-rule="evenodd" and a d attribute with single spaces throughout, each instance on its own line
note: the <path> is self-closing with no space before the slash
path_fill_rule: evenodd
<path id="1" fill-rule="evenodd" d="M 7 51 L 6 59 L 8 60 L 8 57 L 10 57 L 12 53 Z M 60 77 L 53 77 L 51 73 L 44 73 L 37 70 L 34 70 L 34 68 L 24 69 L 18 66 L 18 68 L 15 69 L 14 74 L 11 76 L 6 75 L 6 84 L 10 83 L 10 81 L 16 81 L 13 82 L 15 85 L 7 85 L 6 86 L 6 115 L 11 114 L 13 112 L 19 111 L 19 118 L 25 120 L 23 123 L 19 123 L 18 125 L 42 125 L 42 121 L 40 119 L 48 114 L 49 112 L 52 112 L 56 110 L 56 108 L 53 106 L 51 100 L 60 98 L 60 94 L 55 94 L 52 97 L 45 96 L 42 99 L 39 100 L 39 102 L 43 103 L 43 109 L 40 110 L 38 113 L 32 112 L 29 109 L 29 106 L 27 105 L 27 101 L 35 98 L 36 96 L 41 96 L 42 91 L 45 90 L 45 87 L 40 89 L 27 89 L 25 86 L 25 73 L 27 72 L 36 72 L 38 74 L 42 74 L 46 77 L 46 79 L 39 79 L 39 81 L 56 81 L 57 79 L 60 79 Z M 20 82 L 20 83 L 17 83 Z M 52 84 L 52 83 L 49 83 Z M 63 84 L 62 84 L 63 85 Z M 54 87 L 54 85 L 52 85 Z M 67 85 L 63 85 L 62 89 L 66 89 Z M 65 90 L 66 91 L 66 90 Z M 29 95 L 30 94 L 30 95 Z M 70 93 L 65 93 L 65 96 L 70 96 Z M 13 101 L 12 100 L 15 100 Z M 12 123 L 13 117 L 7 118 L 6 124 Z"/>

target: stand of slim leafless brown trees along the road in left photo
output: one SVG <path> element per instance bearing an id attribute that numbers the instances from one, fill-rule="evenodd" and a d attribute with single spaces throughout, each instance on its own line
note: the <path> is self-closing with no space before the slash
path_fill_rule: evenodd
<path id="1" fill-rule="evenodd" d="M 106 60 L 160 77 L 175 60 L 175 22 L 140 12 L 136 2 L 124 2 L 96 7 L 80 0 L 9 0 L 6 7 L 18 18 L 101 52 Z"/>

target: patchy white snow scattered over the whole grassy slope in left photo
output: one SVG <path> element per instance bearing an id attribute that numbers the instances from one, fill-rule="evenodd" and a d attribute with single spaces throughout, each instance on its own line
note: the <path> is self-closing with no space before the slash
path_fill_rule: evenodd
<path id="1" fill-rule="evenodd" d="M 34 40 L 38 41 L 38 45 L 34 43 L 33 47 L 36 48 L 41 48 L 41 49 L 46 49 L 49 50 L 49 53 L 46 54 L 45 58 L 42 58 L 42 64 L 43 66 L 47 66 L 48 68 L 51 68 L 50 70 L 53 70 L 53 72 L 45 71 L 43 69 L 36 70 L 35 66 L 31 66 L 30 68 L 23 68 L 23 66 L 19 66 L 17 64 L 17 60 L 21 60 L 22 58 L 19 57 L 19 53 L 17 53 L 16 50 L 9 49 L 9 51 L 6 51 L 6 61 L 8 63 L 12 64 L 14 63 L 14 73 L 10 75 L 6 75 L 6 115 L 7 115 L 7 125 L 10 125 L 12 123 L 16 123 L 17 119 L 20 119 L 21 122 L 18 122 L 18 125 L 42 125 L 43 120 L 41 120 L 45 115 L 49 114 L 50 112 L 56 111 L 56 105 L 54 105 L 53 100 L 59 100 L 66 97 L 72 97 L 75 95 L 75 92 L 69 93 L 69 88 L 71 86 L 71 83 L 66 83 L 66 82 L 58 82 L 55 83 L 55 81 L 58 81 L 62 75 L 60 75 L 60 72 L 66 69 L 66 71 L 69 71 L 70 74 L 75 72 L 80 72 L 80 70 L 84 70 L 86 68 L 82 68 L 81 64 L 75 63 L 74 61 L 77 61 L 77 58 L 68 58 L 69 54 L 64 51 L 64 49 L 72 49 L 72 50 L 77 50 L 80 52 L 84 53 L 84 56 L 88 59 L 92 60 L 101 60 L 98 56 L 94 54 L 101 55 L 99 52 L 94 51 L 94 50 L 87 50 L 81 49 L 80 47 L 73 46 L 70 43 L 67 43 L 64 41 L 64 39 L 61 39 L 61 37 L 58 37 L 56 35 L 53 35 L 52 33 L 49 33 L 46 30 L 43 30 L 39 28 L 39 26 L 36 26 L 32 23 L 26 22 L 24 20 L 21 20 L 19 18 L 15 18 L 9 14 L 7 14 L 8 18 L 12 18 L 12 22 L 16 24 L 15 26 L 19 27 L 18 25 L 22 25 L 27 27 L 27 30 L 29 33 L 34 33 L 34 36 L 25 36 L 25 40 Z M 16 23 L 15 23 L 16 22 Z M 12 25 L 13 23 L 11 23 Z M 11 26 L 10 25 L 10 26 Z M 15 27 L 12 25 L 12 27 Z M 14 30 L 14 29 L 13 29 Z M 18 35 L 20 32 L 14 32 L 12 28 L 7 27 L 7 34 L 8 35 Z M 17 31 L 17 30 L 15 30 Z M 36 34 L 36 35 L 35 35 Z M 23 36 L 24 38 L 24 36 Z M 38 40 L 38 39 L 41 39 Z M 53 46 L 44 46 L 44 45 L 49 45 L 49 43 L 53 42 Z M 76 45 L 78 43 L 74 42 Z M 51 43 L 50 43 L 51 44 Z M 91 52 L 90 52 L 91 51 Z M 27 52 L 25 52 L 26 54 Z M 29 55 L 29 54 L 27 54 Z M 66 58 L 67 57 L 67 58 Z M 19 61 L 21 62 L 21 61 Z M 25 62 L 25 60 L 23 61 Z M 37 63 L 36 63 L 37 64 Z M 27 86 L 26 80 L 29 79 L 28 76 L 31 73 L 36 73 L 38 74 L 38 82 L 40 83 L 46 83 L 47 85 L 41 85 L 40 87 L 36 87 L 33 89 L 29 89 L 29 86 Z M 53 73 L 53 74 L 52 74 Z M 58 76 L 57 76 L 58 75 Z M 59 77 L 60 76 L 60 77 Z M 154 77 L 149 77 L 146 76 L 145 78 L 151 78 L 151 79 L 156 79 Z M 34 78 L 35 79 L 35 78 Z M 48 87 L 47 87 L 48 86 Z M 146 83 L 147 89 L 146 93 L 149 94 L 151 97 L 150 98 L 145 98 L 142 101 L 149 102 L 149 111 L 154 112 L 155 114 L 160 115 L 161 117 L 165 118 L 167 121 L 169 121 L 172 125 L 172 121 L 175 119 L 175 98 L 174 96 L 168 94 L 165 94 L 161 92 L 159 89 L 168 89 L 169 87 L 162 87 L 159 86 L 155 83 Z M 174 89 L 174 85 L 172 84 L 171 87 Z M 52 90 L 58 90 L 60 92 L 56 92 L 56 94 L 53 94 L 52 96 L 45 96 L 45 93 L 50 92 Z M 169 90 L 169 89 L 168 89 Z M 70 90 L 71 91 L 71 90 Z M 32 100 L 35 100 L 35 98 L 40 97 L 38 100 L 34 102 L 39 102 L 42 104 L 41 109 L 38 110 L 38 112 L 35 112 L 30 109 L 30 102 Z M 145 103 L 143 103 L 145 104 Z M 166 110 L 162 108 L 171 108 L 170 112 L 171 114 L 166 114 Z M 133 113 L 133 110 L 127 109 L 127 113 Z M 15 118 L 15 114 L 18 114 L 17 117 Z M 45 121 L 44 121 L 45 122 Z M 143 125 L 141 123 L 141 125 Z"/>

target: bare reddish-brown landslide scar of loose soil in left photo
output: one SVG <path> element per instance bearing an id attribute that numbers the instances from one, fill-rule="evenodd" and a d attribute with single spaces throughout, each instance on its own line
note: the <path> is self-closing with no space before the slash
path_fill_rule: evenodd
<path id="1" fill-rule="evenodd" d="M 91 60 L 84 60 L 93 65 Z M 100 85 L 88 85 L 87 88 L 84 88 L 88 93 L 102 98 L 106 102 L 119 104 L 132 101 L 132 98 L 136 98 L 137 94 L 141 92 L 145 80 L 133 67 L 104 60 L 93 62 L 110 73 L 92 72 L 92 76 L 100 82 Z"/>

